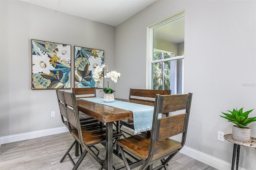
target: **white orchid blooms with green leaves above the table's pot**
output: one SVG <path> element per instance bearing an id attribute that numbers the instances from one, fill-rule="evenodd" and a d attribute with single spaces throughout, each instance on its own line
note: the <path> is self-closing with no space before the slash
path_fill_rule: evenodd
<path id="1" fill-rule="evenodd" d="M 106 67 L 107 65 L 105 65 L 105 63 L 100 67 L 100 66 L 97 66 L 96 69 L 94 70 L 94 72 L 92 73 L 93 74 L 93 79 L 95 82 L 98 82 L 100 81 L 100 79 L 102 79 L 102 73 L 104 71 L 104 67 Z M 119 80 L 119 77 L 120 77 L 120 73 L 117 73 L 116 71 L 110 71 L 108 72 L 108 66 L 107 66 L 107 74 L 104 76 L 104 78 L 106 79 L 111 79 L 112 81 L 114 81 L 115 83 Z M 104 93 L 114 93 L 115 91 L 113 89 L 110 89 L 109 88 L 109 85 L 108 85 L 108 88 L 104 87 L 103 90 Z"/>

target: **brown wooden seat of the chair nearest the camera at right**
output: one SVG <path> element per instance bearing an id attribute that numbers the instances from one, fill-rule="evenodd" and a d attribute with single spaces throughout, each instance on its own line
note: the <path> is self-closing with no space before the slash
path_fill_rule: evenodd
<path id="1" fill-rule="evenodd" d="M 148 158 L 150 146 L 150 134 L 142 133 L 128 138 L 119 139 L 117 144 L 132 154 L 138 156 L 142 160 Z M 182 148 L 180 142 L 170 138 L 155 142 L 152 160 L 161 158 L 175 150 Z"/>

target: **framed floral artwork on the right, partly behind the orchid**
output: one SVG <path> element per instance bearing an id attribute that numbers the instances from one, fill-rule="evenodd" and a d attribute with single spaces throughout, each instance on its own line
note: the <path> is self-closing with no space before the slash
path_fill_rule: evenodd
<path id="1" fill-rule="evenodd" d="M 104 64 L 104 50 L 74 46 L 74 87 L 103 87 L 103 80 L 95 82 L 92 73 Z M 102 73 L 103 76 L 103 73 Z"/>

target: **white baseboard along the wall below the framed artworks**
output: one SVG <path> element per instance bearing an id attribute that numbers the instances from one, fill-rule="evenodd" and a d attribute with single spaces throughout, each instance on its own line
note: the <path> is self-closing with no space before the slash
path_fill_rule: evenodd
<path id="1" fill-rule="evenodd" d="M 46 129 L 46 130 L 38 130 L 38 131 L 34 131 L 34 132 L 14 134 L 14 135 L 10 135 L 10 136 L 2 136 L 2 137 L 0 137 L 0 144 L 17 142 L 20 140 L 38 138 L 38 137 L 42 137 L 42 136 L 48 136 L 48 135 L 59 134 L 59 133 L 64 133 L 64 132 L 68 132 L 67 127 L 50 128 L 50 129 Z"/>

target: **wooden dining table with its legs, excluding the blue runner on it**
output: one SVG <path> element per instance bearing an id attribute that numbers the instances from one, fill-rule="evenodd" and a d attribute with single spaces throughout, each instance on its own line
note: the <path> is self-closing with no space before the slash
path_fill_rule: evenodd
<path id="1" fill-rule="evenodd" d="M 154 106 L 154 101 L 145 102 L 128 99 L 117 99 L 118 101 L 125 101 L 130 103 L 138 103 L 142 105 Z M 83 99 L 76 99 L 78 110 L 86 113 L 90 117 L 97 119 L 102 123 L 106 123 L 106 170 L 112 170 L 113 167 L 113 123 L 124 119 L 133 118 L 132 111 L 118 109 Z M 120 126 L 120 125 L 117 125 Z M 117 128 L 118 129 L 118 128 Z M 120 128 L 118 129 L 118 131 Z"/>

